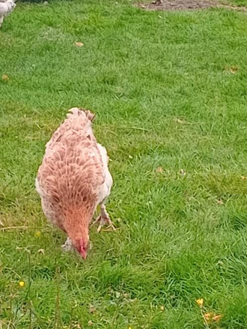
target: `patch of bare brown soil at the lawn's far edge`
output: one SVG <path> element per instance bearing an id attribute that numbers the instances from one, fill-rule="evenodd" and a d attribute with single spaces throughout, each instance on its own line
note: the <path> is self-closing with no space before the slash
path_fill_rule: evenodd
<path id="1" fill-rule="evenodd" d="M 147 10 L 195 10 L 205 8 L 228 8 L 247 11 L 247 7 L 223 4 L 216 0 L 155 0 L 151 3 L 139 3 L 139 7 Z"/>

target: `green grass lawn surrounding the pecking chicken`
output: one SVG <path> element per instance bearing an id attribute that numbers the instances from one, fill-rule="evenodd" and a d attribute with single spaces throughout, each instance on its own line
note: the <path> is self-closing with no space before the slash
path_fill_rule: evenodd
<path id="1" fill-rule="evenodd" d="M 0 328 L 207 328 L 197 298 L 223 315 L 209 328 L 247 328 L 246 44 L 227 9 L 18 2 L 0 30 Z M 73 106 L 97 113 L 120 228 L 93 227 L 85 262 L 34 190 Z"/>

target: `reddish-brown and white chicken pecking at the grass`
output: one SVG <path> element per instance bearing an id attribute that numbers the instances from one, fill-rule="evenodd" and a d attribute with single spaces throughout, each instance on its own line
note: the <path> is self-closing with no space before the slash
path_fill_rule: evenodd
<path id="1" fill-rule="evenodd" d="M 69 112 L 46 145 L 36 190 L 46 217 L 68 236 L 63 249 L 73 247 L 86 259 L 89 224 L 98 205 L 98 231 L 106 223 L 115 229 L 105 207 L 113 179 L 107 151 L 92 131 L 94 114 L 78 108 Z"/>

